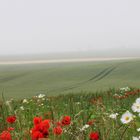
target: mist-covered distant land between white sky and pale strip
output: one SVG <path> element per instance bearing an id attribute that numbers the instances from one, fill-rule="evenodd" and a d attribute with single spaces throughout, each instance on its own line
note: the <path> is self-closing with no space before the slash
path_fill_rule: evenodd
<path id="1" fill-rule="evenodd" d="M 69 51 L 69 52 L 50 52 L 50 53 L 30 53 L 30 54 L 14 54 L 1 55 L 2 61 L 22 61 L 22 60 L 55 60 L 55 59 L 84 59 L 84 58 L 139 58 L 139 48 L 116 48 L 96 51 Z"/>

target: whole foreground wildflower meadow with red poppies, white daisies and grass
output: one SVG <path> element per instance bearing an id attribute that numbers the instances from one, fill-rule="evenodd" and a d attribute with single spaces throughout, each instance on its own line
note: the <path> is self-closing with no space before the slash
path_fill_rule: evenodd
<path id="1" fill-rule="evenodd" d="M 0 104 L 0 140 L 139 140 L 140 90 L 39 94 Z"/>

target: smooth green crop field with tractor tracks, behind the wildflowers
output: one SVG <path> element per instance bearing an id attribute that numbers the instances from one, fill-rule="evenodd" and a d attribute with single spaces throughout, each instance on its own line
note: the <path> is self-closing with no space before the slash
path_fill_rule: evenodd
<path id="1" fill-rule="evenodd" d="M 96 92 L 125 86 L 140 86 L 140 60 L 0 65 L 0 92 L 6 98 Z"/>

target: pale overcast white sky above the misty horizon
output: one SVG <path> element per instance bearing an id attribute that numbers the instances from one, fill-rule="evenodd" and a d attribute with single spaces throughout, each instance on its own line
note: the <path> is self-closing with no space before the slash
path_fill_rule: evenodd
<path id="1" fill-rule="evenodd" d="M 0 54 L 140 50 L 140 0 L 1 0 Z"/>

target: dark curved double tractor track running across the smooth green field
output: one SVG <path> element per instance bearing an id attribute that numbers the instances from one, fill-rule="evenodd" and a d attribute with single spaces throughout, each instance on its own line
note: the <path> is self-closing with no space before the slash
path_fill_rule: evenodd
<path id="1" fill-rule="evenodd" d="M 117 66 L 107 67 L 104 70 L 102 70 L 101 72 L 99 72 L 98 74 L 96 74 L 95 76 L 89 78 L 88 80 L 85 80 L 85 81 L 76 83 L 76 84 L 71 85 L 71 86 L 68 86 L 68 87 L 64 87 L 64 88 L 59 88 L 59 89 L 56 89 L 56 90 L 52 90 L 50 92 L 54 92 L 54 91 L 61 91 L 62 92 L 62 91 L 66 91 L 66 90 L 71 90 L 71 89 L 74 89 L 74 88 L 78 88 L 78 87 L 82 86 L 83 84 L 87 84 L 87 83 L 89 83 L 91 81 L 94 81 L 94 83 L 96 83 L 96 82 L 102 80 L 103 78 L 105 78 L 106 76 L 108 76 L 116 68 L 117 68 Z"/>

